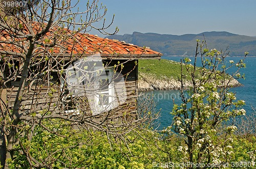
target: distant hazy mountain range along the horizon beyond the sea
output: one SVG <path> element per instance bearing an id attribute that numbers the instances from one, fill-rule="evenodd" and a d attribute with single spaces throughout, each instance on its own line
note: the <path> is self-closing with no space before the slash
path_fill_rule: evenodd
<path id="1" fill-rule="evenodd" d="M 138 46 L 148 46 L 165 55 L 195 55 L 196 40 L 204 37 L 209 49 L 228 51 L 230 56 L 242 56 L 245 51 L 256 55 L 256 37 L 236 35 L 228 32 L 204 32 L 201 34 L 161 35 L 155 33 L 134 32 L 132 35 L 112 35 L 106 38 L 117 39 Z"/>

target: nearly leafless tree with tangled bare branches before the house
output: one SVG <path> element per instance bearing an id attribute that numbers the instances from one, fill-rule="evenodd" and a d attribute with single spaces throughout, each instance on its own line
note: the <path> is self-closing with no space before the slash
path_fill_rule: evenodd
<path id="1" fill-rule="evenodd" d="M 82 78 L 81 82 L 90 82 L 72 86 L 72 80 L 67 80 L 67 76 L 77 78 L 74 72 L 67 73 L 69 66 L 81 59 L 88 50 L 83 48 L 83 52 L 73 53 L 76 50 L 75 46 L 80 43 L 78 37 L 92 29 L 108 34 L 106 29 L 113 23 L 114 17 L 109 24 L 105 23 L 103 18 L 107 10 L 105 6 L 99 5 L 98 0 L 87 3 L 46 0 L 28 1 L 17 5 L 14 3 L 13 6 L 11 3 L 8 4 L 2 0 L 0 5 L 0 155 L 3 168 L 8 168 L 6 161 L 13 159 L 16 151 L 14 145 L 20 145 L 31 167 L 50 167 L 49 163 L 33 158 L 29 148 L 20 141 L 20 137 L 26 137 L 31 141 L 36 126 L 58 136 L 64 136 L 44 125 L 45 121 L 59 119 L 68 121 L 73 127 L 121 135 L 131 131 L 131 126 L 139 126 L 151 118 L 141 115 L 131 121 L 127 118 L 132 116 L 122 115 L 122 122 L 117 123 L 113 122 L 112 118 L 118 108 L 110 110 L 103 107 L 103 111 L 106 112 L 101 114 L 95 114 L 90 109 L 90 94 L 81 96 L 77 91 L 81 91 L 80 88 L 84 89 L 86 85 L 92 87 L 97 80 L 93 78 L 93 74 L 106 74 L 103 67 L 96 70 L 94 68 L 97 65 L 93 65 L 90 70 L 86 70 L 84 62 L 77 63 L 83 65 L 83 69 L 80 65 L 78 72 L 86 72 L 84 76 L 79 76 Z M 79 6 L 84 6 L 85 10 L 79 11 Z M 99 21 L 102 21 L 101 27 L 95 27 L 94 23 Z M 116 28 L 114 33 L 117 31 Z M 131 60 L 115 64 L 113 62 L 102 61 L 104 67 L 113 69 L 112 81 L 121 77 L 123 65 Z M 130 72 L 121 75 L 127 77 Z M 104 88 L 102 79 L 100 83 Z M 9 97 L 6 99 L 3 96 Z M 98 101 L 104 102 L 104 97 L 101 96 L 98 95 Z M 120 108 L 129 109 L 129 104 L 126 103 Z"/>

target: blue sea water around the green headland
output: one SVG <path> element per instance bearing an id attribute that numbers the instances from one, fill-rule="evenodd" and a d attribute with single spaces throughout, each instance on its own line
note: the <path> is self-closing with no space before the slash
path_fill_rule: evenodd
<path id="1" fill-rule="evenodd" d="M 162 59 L 173 60 L 180 62 L 184 57 L 169 57 L 165 56 Z M 194 58 L 190 58 L 193 60 Z M 243 58 L 241 57 L 228 57 L 226 58 L 227 64 L 229 60 L 233 60 L 234 63 L 238 62 Z M 245 79 L 238 79 L 240 83 L 243 84 L 242 87 L 231 88 L 230 91 L 236 93 L 237 99 L 242 99 L 245 101 L 246 105 L 243 107 L 246 110 L 246 114 L 251 114 L 252 107 L 256 108 L 256 57 L 247 57 L 245 59 L 246 68 L 241 69 L 241 74 L 245 74 Z M 146 95 L 154 95 L 154 100 L 156 101 L 156 109 L 161 109 L 161 117 L 159 118 L 160 126 L 159 130 L 164 127 L 169 126 L 172 123 L 172 115 L 170 112 L 173 108 L 173 99 L 175 103 L 180 104 L 181 99 L 179 96 L 179 91 L 148 91 L 144 92 Z"/>

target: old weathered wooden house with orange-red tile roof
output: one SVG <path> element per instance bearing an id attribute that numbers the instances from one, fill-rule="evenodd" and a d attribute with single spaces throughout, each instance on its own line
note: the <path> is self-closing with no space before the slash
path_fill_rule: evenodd
<path id="1" fill-rule="evenodd" d="M 67 31 L 66 35 L 69 33 L 72 32 Z M 42 43 L 53 42 L 51 34 L 52 31 Z M 12 109 L 15 99 L 20 99 L 20 114 L 51 111 L 96 117 L 108 111 L 104 118 L 136 117 L 139 60 L 159 60 L 162 54 L 147 47 L 89 34 L 59 37 L 57 42 L 61 47 L 41 49 L 38 45 L 33 50 L 22 98 L 17 98 L 17 92 L 24 59 L 15 53 L 24 49 L 0 43 L 0 94 L 4 102 L 1 106 Z M 0 40 L 11 42 L 13 37 L 2 30 Z"/>

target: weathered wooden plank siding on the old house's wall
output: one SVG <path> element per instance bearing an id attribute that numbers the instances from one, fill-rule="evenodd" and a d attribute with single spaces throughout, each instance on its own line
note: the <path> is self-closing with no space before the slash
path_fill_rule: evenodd
<path id="1" fill-rule="evenodd" d="M 117 72 L 124 75 L 125 89 L 126 89 L 126 101 L 119 105 L 114 110 L 111 110 L 110 121 L 120 122 L 122 120 L 132 120 L 136 118 L 137 112 L 137 84 L 138 84 L 138 60 L 104 60 L 109 62 L 109 66 L 114 66 L 123 63 L 123 68 L 119 66 Z M 20 111 L 36 111 L 40 112 L 47 108 L 49 111 L 55 111 L 56 113 L 63 113 L 63 102 L 60 96 L 60 79 L 57 75 L 53 75 L 51 79 L 51 85 L 37 85 L 32 86 L 31 89 L 25 88 L 25 95 L 22 99 L 22 106 Z M 115 90 L 121 91 L 121 87 L 116 82 Z M 11 81 L 6 88 L 6 100 L 7 105 L 11 109 L 14 106 L 14 101 L 18 91 L 19 81 Z M 92 98 L 93 99 L 93 98 Z"/>

